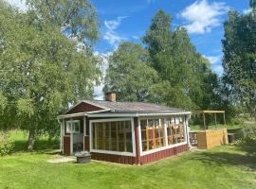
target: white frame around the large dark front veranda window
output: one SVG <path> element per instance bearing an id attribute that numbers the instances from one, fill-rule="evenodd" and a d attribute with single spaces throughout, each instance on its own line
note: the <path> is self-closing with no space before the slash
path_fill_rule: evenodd
<path id="1" fill-rule="evenodd" d="M 100 149 L 93 149 L 92 148 L 92 124 L 93 123 L 101 123 L 101 122 L 115 122 L 115 121 L 131 121 L 132 125 L 132 142 L 133 142 L 133 152 L 120 152 L 120 151 L 110 151 L 110 150 L 100 150 Z M 121 155 L 121 156 L 132 156 L 136 157 L 136 144 L 135 144 L 135 126 L 134 126 L 134 118 L 115 118 L 115 119 L 98 119 L 98 120 L 90 120 L 89 121 L 89 132 L 90 132 L 90 152 L 95 153 L 104 153 L 104 154 L 114 154 L 114 155 Z"/>

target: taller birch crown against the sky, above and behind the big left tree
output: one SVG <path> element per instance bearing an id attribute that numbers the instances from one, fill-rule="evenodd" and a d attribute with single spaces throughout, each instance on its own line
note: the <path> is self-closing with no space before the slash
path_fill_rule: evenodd
<path id="1" fill-rule="evenodd" d="M 87 0 L 27 0 L 27 5 L 39 21 L 59 26 L 86 48 L 91 49 L 99 39 L 97 11 Z"/>

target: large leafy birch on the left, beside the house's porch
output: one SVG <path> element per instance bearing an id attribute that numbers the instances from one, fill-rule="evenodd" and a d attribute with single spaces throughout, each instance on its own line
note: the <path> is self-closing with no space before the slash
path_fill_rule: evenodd
<path id="1" fill-rule="evenodd" d="M 68 104 L 93 97 L 97 64 L 59 26 L 0 1 L 0 126 L 28 130 L 30 149 L 37 135 L 58 134 Z"/>

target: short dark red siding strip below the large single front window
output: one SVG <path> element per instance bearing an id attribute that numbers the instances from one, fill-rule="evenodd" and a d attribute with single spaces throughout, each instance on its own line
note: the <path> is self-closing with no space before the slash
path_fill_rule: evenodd
<path id="1" fill-rule="evenodd" d="M 135 164 L 136 157 L 91 152 L 92 159 L 111 163 Z"/>

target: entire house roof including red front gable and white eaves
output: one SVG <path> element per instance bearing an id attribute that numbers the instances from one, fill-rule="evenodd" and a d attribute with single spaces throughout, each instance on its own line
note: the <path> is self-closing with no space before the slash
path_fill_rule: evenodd
<path id="1" fill-rule="evenodd" d="M 86 111 L 84 107 L 81 107 L 82 103 L 89 104 L 94 107 L 99 107 L 101 109 Z M 76 111 L 72 112 L 73 110 Z M 102 100 L 82 100 L 75 106 L 71 107 L 63 115 L 59 115 L 57 118 L 69 118 L 84 115 L 87 115 L 89 117 L 131 117 L 180 114 L 191 114 L 191 112 L 145 102 L 111 102 Z"/>

